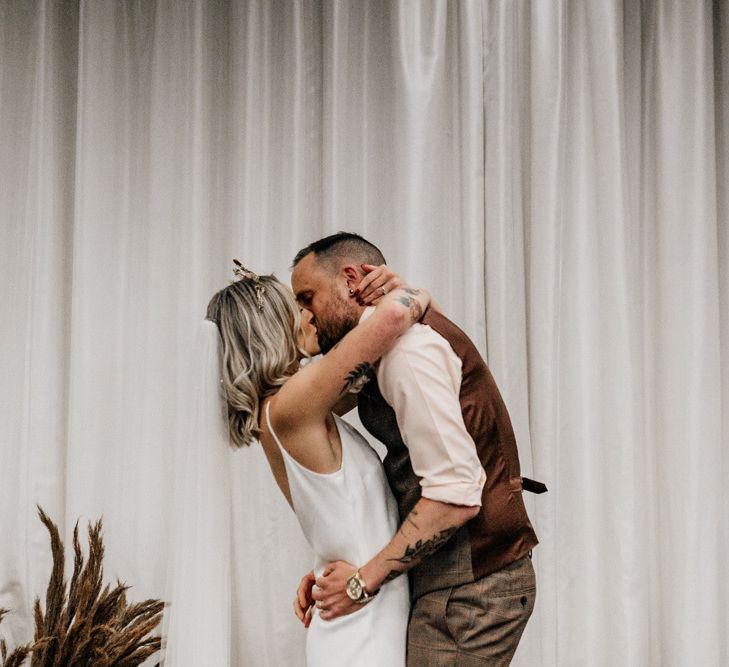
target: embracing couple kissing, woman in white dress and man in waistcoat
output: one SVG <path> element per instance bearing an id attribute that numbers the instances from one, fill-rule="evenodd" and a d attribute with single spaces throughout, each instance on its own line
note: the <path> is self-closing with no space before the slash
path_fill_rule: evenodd
<path id="1" fill-rule="evenodd" d="M 472 341 L 357 234 L 300 250 L 291 289 L 235 274 L 206 319 L 230 440 L 263 447 L 315 554 L 306 664 L 509 664 L 536 595 L 522 491 L 543 489 Z"/>

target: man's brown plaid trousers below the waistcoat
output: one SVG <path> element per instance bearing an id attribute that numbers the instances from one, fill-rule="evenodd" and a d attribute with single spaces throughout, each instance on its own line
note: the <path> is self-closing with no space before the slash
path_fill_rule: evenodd
<path id="1" fill-rule="evenodd" d="M 508 665 L 535 598 L 528 556 L 473 583 L 423 595 L 410 616 L 408 667 Z"/>

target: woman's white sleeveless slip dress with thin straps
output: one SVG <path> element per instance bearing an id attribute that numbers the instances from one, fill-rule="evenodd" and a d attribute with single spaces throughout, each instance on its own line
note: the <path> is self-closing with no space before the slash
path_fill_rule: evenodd
<path id="1" fill-rule="evenodd" d="M 266 422 L 281 450 L 294 511 L 315 554 L 314 573 L 344 560 L 364 565 L 398 529 L 395 499 L 377 453 L 362 435 L 334 415 L 342 442 L 342 464 L 316 473 L 296 461 Z M 314 611 L 306 636 L 308 667 L 403 667 L 410 596 L 408 579 L 386 583 L 375 598 L 347 616 L 323 621 Z"/>

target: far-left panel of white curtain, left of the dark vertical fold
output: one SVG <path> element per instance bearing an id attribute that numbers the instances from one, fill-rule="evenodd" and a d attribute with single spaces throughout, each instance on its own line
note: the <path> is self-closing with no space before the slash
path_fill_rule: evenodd
<path id="1" fill-rule="evenodd" d="M 0 606 L 25 637 L 50 568 L 36 503 L 63 520 L 78 7 L 0 5 Z M 12 385 L 12 386 L 11 386 Z M 30 527 L 30 528 L 29 528 Z M 7 627 L 5 627 L 7 626 Z"/>

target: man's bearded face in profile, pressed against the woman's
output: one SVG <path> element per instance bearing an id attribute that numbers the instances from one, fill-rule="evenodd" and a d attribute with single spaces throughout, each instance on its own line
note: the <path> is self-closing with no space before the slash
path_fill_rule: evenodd
<path id="1" fill-rule="evenodd" d="M 357 326 L 361 308 L 349 296 L 345 274 L 320 264 L 313 253 L 294 267 L 291 287 L 299 305 L 313 315 L 322 354 Z"/>

